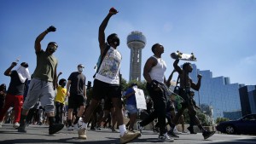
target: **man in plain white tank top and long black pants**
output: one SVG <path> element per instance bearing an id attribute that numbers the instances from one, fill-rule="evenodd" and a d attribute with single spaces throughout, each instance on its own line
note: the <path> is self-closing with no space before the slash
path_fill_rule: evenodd
<path id="1" fill-rule="evenodd" d="M 152 52 L 154 55 L 146 61 L 143 76 L 147 81 L 148 94 L 154 102 L 154 112 L 151 112 L 142 122 L 138 122 L 137 127 L 141 131 L 154 118 L 158 118 L 160 127 L 158 140 L 172 142 L 173 139 L 167 135 L 166 131 L 166 95 L 160 89 L 160 85 L 166 84 L 166 62 L 161 59 L 161 55 L 164 53 L 164 47 L 160 43 L 155 43 L 152 46 Z"/>

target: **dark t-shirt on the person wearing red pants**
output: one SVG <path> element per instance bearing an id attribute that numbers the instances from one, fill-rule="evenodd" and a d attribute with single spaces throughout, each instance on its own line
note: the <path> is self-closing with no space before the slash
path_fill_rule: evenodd
<path id="1" fill-rule="evenodd" d="M 20 82 L 20 78 L 17 71 L 12 71 L 10 74 L 10 83 L 7 90 L 7 94 L 10 95 L 23 95 L 25 83 Z"/>

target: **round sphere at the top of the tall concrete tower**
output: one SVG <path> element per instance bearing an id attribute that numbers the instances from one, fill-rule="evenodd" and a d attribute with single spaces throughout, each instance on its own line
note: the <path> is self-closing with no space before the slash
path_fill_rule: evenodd
<path id="1" fill-rule="evenodd" d="M 143 32 L 131 32 L 127 37 L 127 45 L 130 49 L 143 49 L 146 45 L 146 37 Z"/>

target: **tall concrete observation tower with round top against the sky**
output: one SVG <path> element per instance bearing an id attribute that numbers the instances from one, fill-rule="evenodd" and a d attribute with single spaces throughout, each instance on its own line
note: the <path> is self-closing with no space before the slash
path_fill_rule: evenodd
<path id="1" fill-rule="evenodd" d="M 146 45 L 146 37 L 143 32 L 131 32 L 127 37 L 127 45 L 131 49 L 129 81 L 141 81 L 142 49 Z"/>

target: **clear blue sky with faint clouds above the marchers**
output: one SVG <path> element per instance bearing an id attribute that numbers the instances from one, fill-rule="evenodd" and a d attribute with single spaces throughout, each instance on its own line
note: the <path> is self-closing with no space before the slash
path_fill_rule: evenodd
<path id="1" fill-rule="evenodd" d="M 161 43 L 166 77 L 173 70 L 170 54 L 179 50 L 193 52 L 197 61 L 192 63 L 201 71 L 210 70 L 213 77 L 229 77 L 231 84 L 256 84 L 255 0 L 1 0 L 0 84 L 9 85 L 3 72 L 17 58 L 34 72 L 34 41 L 49 26 L 56 32 L 46 35 L 41 45 L 46 49 L 49 42 L 58 43 L 54 55 L 59 60 L 57 73 L 63 73 L 60 78 L 68 78 L 83 64 L 87 81 L 93 81 L 100 55 L 98 27 L 112 7 L 119 13 L 111 17 L 105 33 L 119 35 L 120 72 L 127 81 L 131 50 L 126 38 L 139 31 L 147 39 L 142 67 L 153 55 L 152 45 Z"/>

